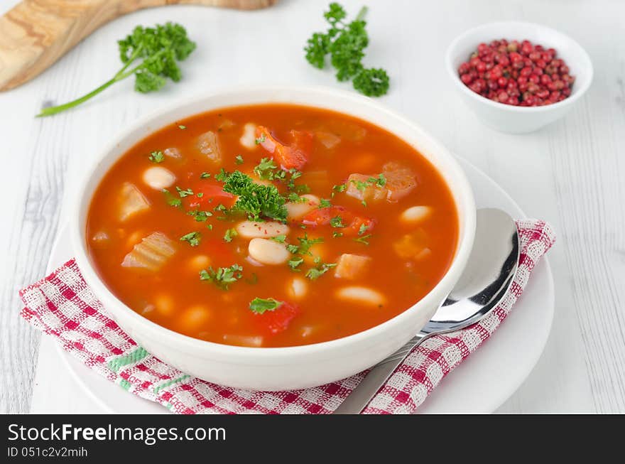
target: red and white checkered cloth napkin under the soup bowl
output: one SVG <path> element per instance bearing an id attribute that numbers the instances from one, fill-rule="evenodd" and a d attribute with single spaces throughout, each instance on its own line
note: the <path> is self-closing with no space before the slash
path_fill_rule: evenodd
<path id="1" fill-rule="evenodd" d="M 549 225 L 517 222 L 521 264 L 509 293 L 479 323 L 429 338 L 406 358 L 364 414 L 414 411 L 454 367 L 489 338 L 511 310 L 531 271 L 553 244 Z M 131 340 L 97 301 L 75 261 L 24 288 L 21 315 L 62 347 L 120 387 L 179 414 L 330 414 L 357 387 L 363 374 L 293 392 L 252 392 L 221 387 L 166 365 Z"/>

